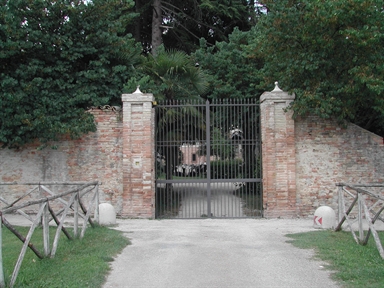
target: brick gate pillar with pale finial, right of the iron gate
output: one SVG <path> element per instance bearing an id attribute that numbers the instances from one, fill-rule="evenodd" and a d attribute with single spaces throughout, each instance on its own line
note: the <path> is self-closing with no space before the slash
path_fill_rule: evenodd
<path id="1" fill-rule="evenodd" d="M 276 87 L 260 97 L 265 217 L 296 215 L 295 123 L 284 109 L 295 95 Z"/>

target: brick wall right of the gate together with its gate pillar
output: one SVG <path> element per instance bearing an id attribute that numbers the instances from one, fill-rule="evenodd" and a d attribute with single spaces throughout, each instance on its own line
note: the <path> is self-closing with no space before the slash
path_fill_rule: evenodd
<path id="1" fill-rule="evenodd" d="M 361 127 L 309 116 L 292 119 L 294 95 L 277 86 L 261 98 L 265 217 L 338 210 L 336 183 L 384 183 L 384 140 Z"/>

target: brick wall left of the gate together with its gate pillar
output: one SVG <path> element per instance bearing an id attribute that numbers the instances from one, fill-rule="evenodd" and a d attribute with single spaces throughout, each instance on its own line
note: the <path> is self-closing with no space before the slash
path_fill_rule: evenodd
<path id="1" fill-rule="evenodd" d="M 53 143 L 57 150 L 45 148 L 39 151 L 38 145 L 29 145 L 18 151 L 0 150 L 0 181 L 98 180 L 102 183 L 99 187 L 100 202 L 111 203 L 118 215 L 153 218 L 153 95 L 137 90 L 122 95 L 122 100 L 122 111 L 90 111 L 95 117 L 97 131 L 79 140 Z M 11 202 L 28 187 L 0 186 L 0 189 L 1 195 Z"/>

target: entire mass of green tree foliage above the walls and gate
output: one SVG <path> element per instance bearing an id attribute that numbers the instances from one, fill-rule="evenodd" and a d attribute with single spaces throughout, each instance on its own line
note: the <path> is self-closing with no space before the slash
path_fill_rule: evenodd
<path id="1" fill-rule="evenodd" d="M 384 135 L 382 0 L 0 4 L 5 146 L 94 131 L 86 108 L 120 104 L 123 86 L 138 84 L 158 100 L 222 99 L 259 97 L 279 81 L 296 93 L 295 116 L 336 117 Z M 154 29 L 163 46 L 151 55 Z"/>

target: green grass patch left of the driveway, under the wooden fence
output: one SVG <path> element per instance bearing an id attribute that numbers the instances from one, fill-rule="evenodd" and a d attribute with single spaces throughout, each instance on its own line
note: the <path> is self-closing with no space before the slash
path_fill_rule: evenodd
<path id="1" fill-rule="evenodd" d="M 23 235 L 29 227 L 17 227 Z M 22 247 L 22 242 L 3 227 L 3 265 L 6 285 Z M 54 238 L 54 228 L 51 242 Z M 43 250 L 42 229 L 31 242 Z M 14 287 L 101 287 L 110 270 L 109 263 L 129 244 L 122 232 L 107 227 L 88 228 L 83 239 L 68 240 L 61 235 L 55 258 L 39 259 L 27 250 Z"/>

